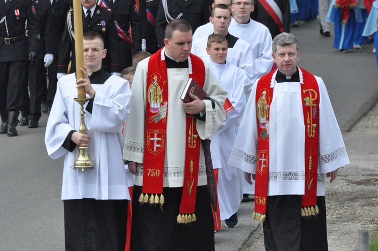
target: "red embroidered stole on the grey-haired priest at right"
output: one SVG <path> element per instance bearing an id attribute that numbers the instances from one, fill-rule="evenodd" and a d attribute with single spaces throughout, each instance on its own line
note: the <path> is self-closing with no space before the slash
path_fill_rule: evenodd
<path id="1" fill-rule="evenodd" d="M 319 86 L 316 78 L 301 69 L 303 83 L 300 84 L 302 108 L 305 124 L 304 169 L 305 190 L 302 196 L 302 216 L 313 216 L 319 213 L 317 203 L 317 181 L 319 160 Z M 258 156 L 255 184 L 255 212 L 253 219 L 265 221 L 269 179 L 269 107 L 273 100 L 272 71 L 257 83 L 256 109 L 258 119 Z"/>

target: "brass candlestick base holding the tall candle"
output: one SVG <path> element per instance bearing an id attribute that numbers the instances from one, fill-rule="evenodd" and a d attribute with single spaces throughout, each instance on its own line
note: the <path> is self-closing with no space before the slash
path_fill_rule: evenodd
<path id="1" fill-rule="evenodd" d="M 80 127 L 79 127 L 79 133 L 86 134 L 87 133 L 87 127 L 85 126 L 84 121 L 84 104 L 90 100 L 90 98 L 74 98 L 76 102 L 80 104 Z M 76 167 L 81 168 L 82 171 L 84 171 L 85 168 L 93 169 L 93 162 L 88 157 L 88 147 L 79 147 L 79 156 L 76 159 L 74 163 L 74 169 Z"/>

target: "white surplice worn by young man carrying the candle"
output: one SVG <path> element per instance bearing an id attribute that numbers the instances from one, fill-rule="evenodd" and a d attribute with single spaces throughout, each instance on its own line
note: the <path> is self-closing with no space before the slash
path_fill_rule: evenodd
<path id="1" fill-rule="evenodd" d="M 45 133 L 48 155 L 53 159 L 65 156 L 61 199 L 130 200 L 121 135 L 123 121 L 130 112 L 129 83 L 114 75 L 104 84 L 92 83 L 96 95 L 92 113 L 86 112 L 85 122 L 91 137 L 88 155 L 94 169 L 84 171 L 73 169 L 78 147 L 73 152 L 62 147 L 68 134 L 78 131 L 80 126 L 80 105 L 74 101 L 78 96 L 75 83 L 75 74 L 59 79 Z"/>

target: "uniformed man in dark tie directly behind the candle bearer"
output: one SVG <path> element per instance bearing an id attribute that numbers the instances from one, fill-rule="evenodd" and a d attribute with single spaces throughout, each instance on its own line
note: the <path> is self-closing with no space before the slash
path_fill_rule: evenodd
<path id="1" fill-rule="evenodd" d="M 106 57 L 102 59 L 102 69 L 106 72 L 115 73 L 115 75 L 120 76 L 122 69 L 118 52 L 119 40 L 115 39 L 117 36 L 117 30 L 115 29 L 114 19 L 110 9 L 98 6 L 96 0 L 81 0 L 81 4 L 83 6 L 83 33 L 87 31 L 95 31 L 99 33 L 104 40 L 105 49 L 107 49 L 110 54 L 106 54 Z M 72 51 L 70 73 L 76 71 L 74 40 L 74 13 L 71 10 L 67 14 L 67 22 L 61 41 L 58 57 L 57 79 L 68 73 L 70 51 Z"/>

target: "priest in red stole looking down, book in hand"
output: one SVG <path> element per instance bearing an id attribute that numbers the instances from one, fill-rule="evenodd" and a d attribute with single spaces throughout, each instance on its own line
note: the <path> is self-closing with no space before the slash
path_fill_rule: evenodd
<path id="1" fill-rule="evenodd" d="M 225 119 L 227 92 L 191 54 L 192 27 L 171 21 L 165 46 L 136 69 L 123 159 L 136 175 L 130 250 L 214 250 L 214 224 L 201 140 Z M 205 90 L 183 103 L 189 78 Z"/>

